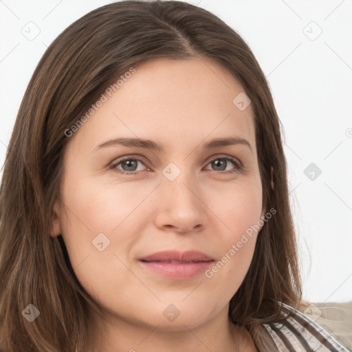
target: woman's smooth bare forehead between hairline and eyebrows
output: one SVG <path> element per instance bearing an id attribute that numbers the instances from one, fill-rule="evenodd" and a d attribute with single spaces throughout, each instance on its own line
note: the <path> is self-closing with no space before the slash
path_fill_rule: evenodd
<path id="1" fill-rule="evenodd" d="M 134 69 L 122 74 L 110 96 L 103 92 L 106 102 L 76 132 L 81 145 L 89 144 L 85 148 L 117 136 L 192 148 L 224 135 L 243 137 L 255 148 L 252 107 L 241 110 L 234 103 L 243 87 L 219 63 L 157 58 Z"/>

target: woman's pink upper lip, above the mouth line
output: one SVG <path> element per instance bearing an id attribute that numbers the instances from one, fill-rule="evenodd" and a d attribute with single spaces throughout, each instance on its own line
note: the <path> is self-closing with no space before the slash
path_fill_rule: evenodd
<path id="1" fill-rule="evenodd" d="M 186 252 L 179 252 L 177 250 L 165 250 L 157 252 L 148 256 L 144 256 L 140 261 L 179 261 L 179 262 L 200 262 L 213 261 L 210 256 L 197 250 L 188 250 Z"/>

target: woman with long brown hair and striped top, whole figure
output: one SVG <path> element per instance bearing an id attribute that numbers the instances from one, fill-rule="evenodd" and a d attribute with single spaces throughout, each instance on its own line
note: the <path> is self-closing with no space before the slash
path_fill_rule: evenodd
<path id="1" fill-rule="evenodd" d="M 297 310 L 278 115 L 206 10 L 120 1 L 58 36 L 0 206 L 1 351 L 347 351 Z"/>

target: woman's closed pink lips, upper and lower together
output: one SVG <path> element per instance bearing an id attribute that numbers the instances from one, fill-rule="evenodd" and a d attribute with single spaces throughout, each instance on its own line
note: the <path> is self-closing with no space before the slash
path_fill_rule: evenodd
<path id="1" fill-rule="evenodd" d="M 170 263 L 176 261 L 180 263 Z M 143 267 L 168 278 L 185 280 L 203 273 L 214 262 L 210 256 L 195 250 L 157 252 L 140 259 Z"/>

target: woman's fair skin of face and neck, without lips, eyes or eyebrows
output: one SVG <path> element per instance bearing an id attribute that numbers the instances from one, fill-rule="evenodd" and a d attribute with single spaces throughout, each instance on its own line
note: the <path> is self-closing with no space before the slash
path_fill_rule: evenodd
<path id="1" fill-rule="evenodd" d="M 51 235 L 62 234 L 78 280 L 103 310 L 104 320 L 90 311 L 87 351 L 256 351 L 245 329 L 228 320 L 228 307 L 248 272 L 257 232 L 212 278 L 173 280 L 137 260 L 199 250 L 218 262 L 265 214 L 252 106 L 241 111 L 232 103 L 243 87 L 208 58 L 158 58 L 135 69 L 70 137 L 55 206 Z M 234 136 L 252 149 L 202 146 Z M 164 151 L 96 150 L 116 137 L 150 139 Z M 109 167 L 122 156 L 142 162 Z M 224 156 L 244 170 L 214 165 Z M 181 171 L 173 181 L 162 173 L 170 162 Z M 110 241 L 102 252 L 92 245 L 100 232 Z M 173 321 L 163 314 L 170 304 L 180 312 Z"/>

